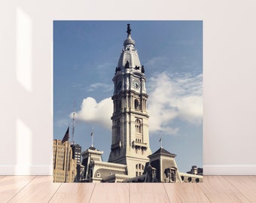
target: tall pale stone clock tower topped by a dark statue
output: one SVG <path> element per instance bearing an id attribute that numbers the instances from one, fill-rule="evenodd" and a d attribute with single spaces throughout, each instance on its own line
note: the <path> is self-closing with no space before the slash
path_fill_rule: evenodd
<path id="1" fill-rule="evenodd" d="M 127 165 L 130 177 L 142 174 L 151 154 L 148 135 L 146 77 L 139 61 L 130 24 L 113 77 L 114 112 L 111 153 L 108 162 Z"/>

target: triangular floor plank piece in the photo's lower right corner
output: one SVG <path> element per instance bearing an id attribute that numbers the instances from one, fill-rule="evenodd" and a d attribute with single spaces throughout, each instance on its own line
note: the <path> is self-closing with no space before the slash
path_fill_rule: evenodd
<path id="1" fill-rule="evenodd" d="M 224 178 L 249 201 L 256 202 L 256 176 L 225 176 Z"/>

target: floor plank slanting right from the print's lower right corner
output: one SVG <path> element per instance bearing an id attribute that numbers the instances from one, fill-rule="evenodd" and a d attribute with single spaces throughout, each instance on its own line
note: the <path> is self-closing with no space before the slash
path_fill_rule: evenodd
<path id="1" fill-rule="evenodd" d="M 251 202 L 222 176 L 205 176 L 199 186 L 211 202 Z"/>

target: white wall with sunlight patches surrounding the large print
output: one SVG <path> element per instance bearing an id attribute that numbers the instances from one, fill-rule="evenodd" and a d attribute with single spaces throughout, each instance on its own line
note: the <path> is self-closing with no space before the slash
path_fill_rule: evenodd
<path id="1" fill-rule="evenodd" d="M 256 174 L 254 1 L 129 2 L 0 3 L 0 174 L 52 173 L 52 23 L 102 19 L 203 20 L 204 172 Z"/>

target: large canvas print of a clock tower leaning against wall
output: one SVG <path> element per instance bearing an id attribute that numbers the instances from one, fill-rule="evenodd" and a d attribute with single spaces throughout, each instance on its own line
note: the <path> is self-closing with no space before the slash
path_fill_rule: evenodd
<path id="1" fill-rule="evenodd" d="M 203 21 L 53 21 L 53 182 L 203 182 Z"/>

